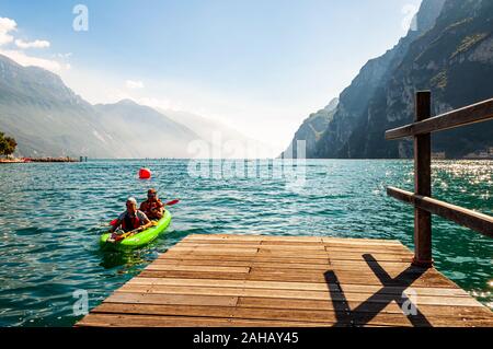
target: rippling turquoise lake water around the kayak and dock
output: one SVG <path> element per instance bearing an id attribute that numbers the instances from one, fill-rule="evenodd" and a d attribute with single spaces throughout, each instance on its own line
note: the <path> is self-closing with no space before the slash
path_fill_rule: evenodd
<path id="1" fill-rule="evenodd" d="M 151 181 L 137 179 L 142 165 Z M 85 290 L 93 307 L 188 234 L 397 239 L 412 247 L 412 208 L 386 195 L 388 185 L 412 190 L 412 168 L 409 161 L 308 161 L 305 186 L 291 190 L 268 175 L 194 178 L 179 160 L 2 165 L 0 326 L 71 326 L 80 318 L 74 291 Z M 433 170 L 437 198 L 493 214 L 493 162 Z M 130 255 L 102 253 L 104 224 L 150 186 L 181 199 L 170 233 Z M 492 240 L 435 218 L 434 254 L 440 271 L 493 309 Z"/>

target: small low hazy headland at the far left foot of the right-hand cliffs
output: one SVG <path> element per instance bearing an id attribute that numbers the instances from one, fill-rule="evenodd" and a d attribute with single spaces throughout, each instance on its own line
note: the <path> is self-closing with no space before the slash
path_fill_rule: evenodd
<path id="1" fill-rule="evenodd" d="M 311 114 L 296 131 L 289 147 L 280 154 L 283 159 L 298 156 L 298 141 L 305 141 L 306 156 L 314 158 L 317 154 L 317 142 L 329 127 L 337 109 L 339 98 L 333 98 L 328 106 Z M 301 155 L 300 155 L 301 156 Z"/>

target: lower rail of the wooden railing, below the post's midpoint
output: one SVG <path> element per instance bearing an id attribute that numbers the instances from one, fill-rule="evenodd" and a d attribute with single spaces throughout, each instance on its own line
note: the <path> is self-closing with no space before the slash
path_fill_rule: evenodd
<path id="1" fill-rule="evenodd" d="M 485 236 L 493 237 L 493 217 L 393 187 L 387 188 L 387 194 L 429 213 L 440 216 Z"/>

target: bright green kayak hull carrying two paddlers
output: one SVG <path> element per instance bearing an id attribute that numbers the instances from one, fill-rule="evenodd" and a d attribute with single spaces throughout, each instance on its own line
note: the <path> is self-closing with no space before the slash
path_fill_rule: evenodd
<path id="1" fill-rule="evenodd" d="M 158 221 L 156 226 L 149 228 L 144 232 L 126 237 L 117 243 L 108 243 L 107 239 L 111 236 L 110 233 L 101 235 L 100 245 L 105 249 L 114 251 L 131 251 L 135 248 L 140 248 L 150 242 L 154 241 L 171 223 L 170 211 L 164 211 L 163 218 Z"/>

